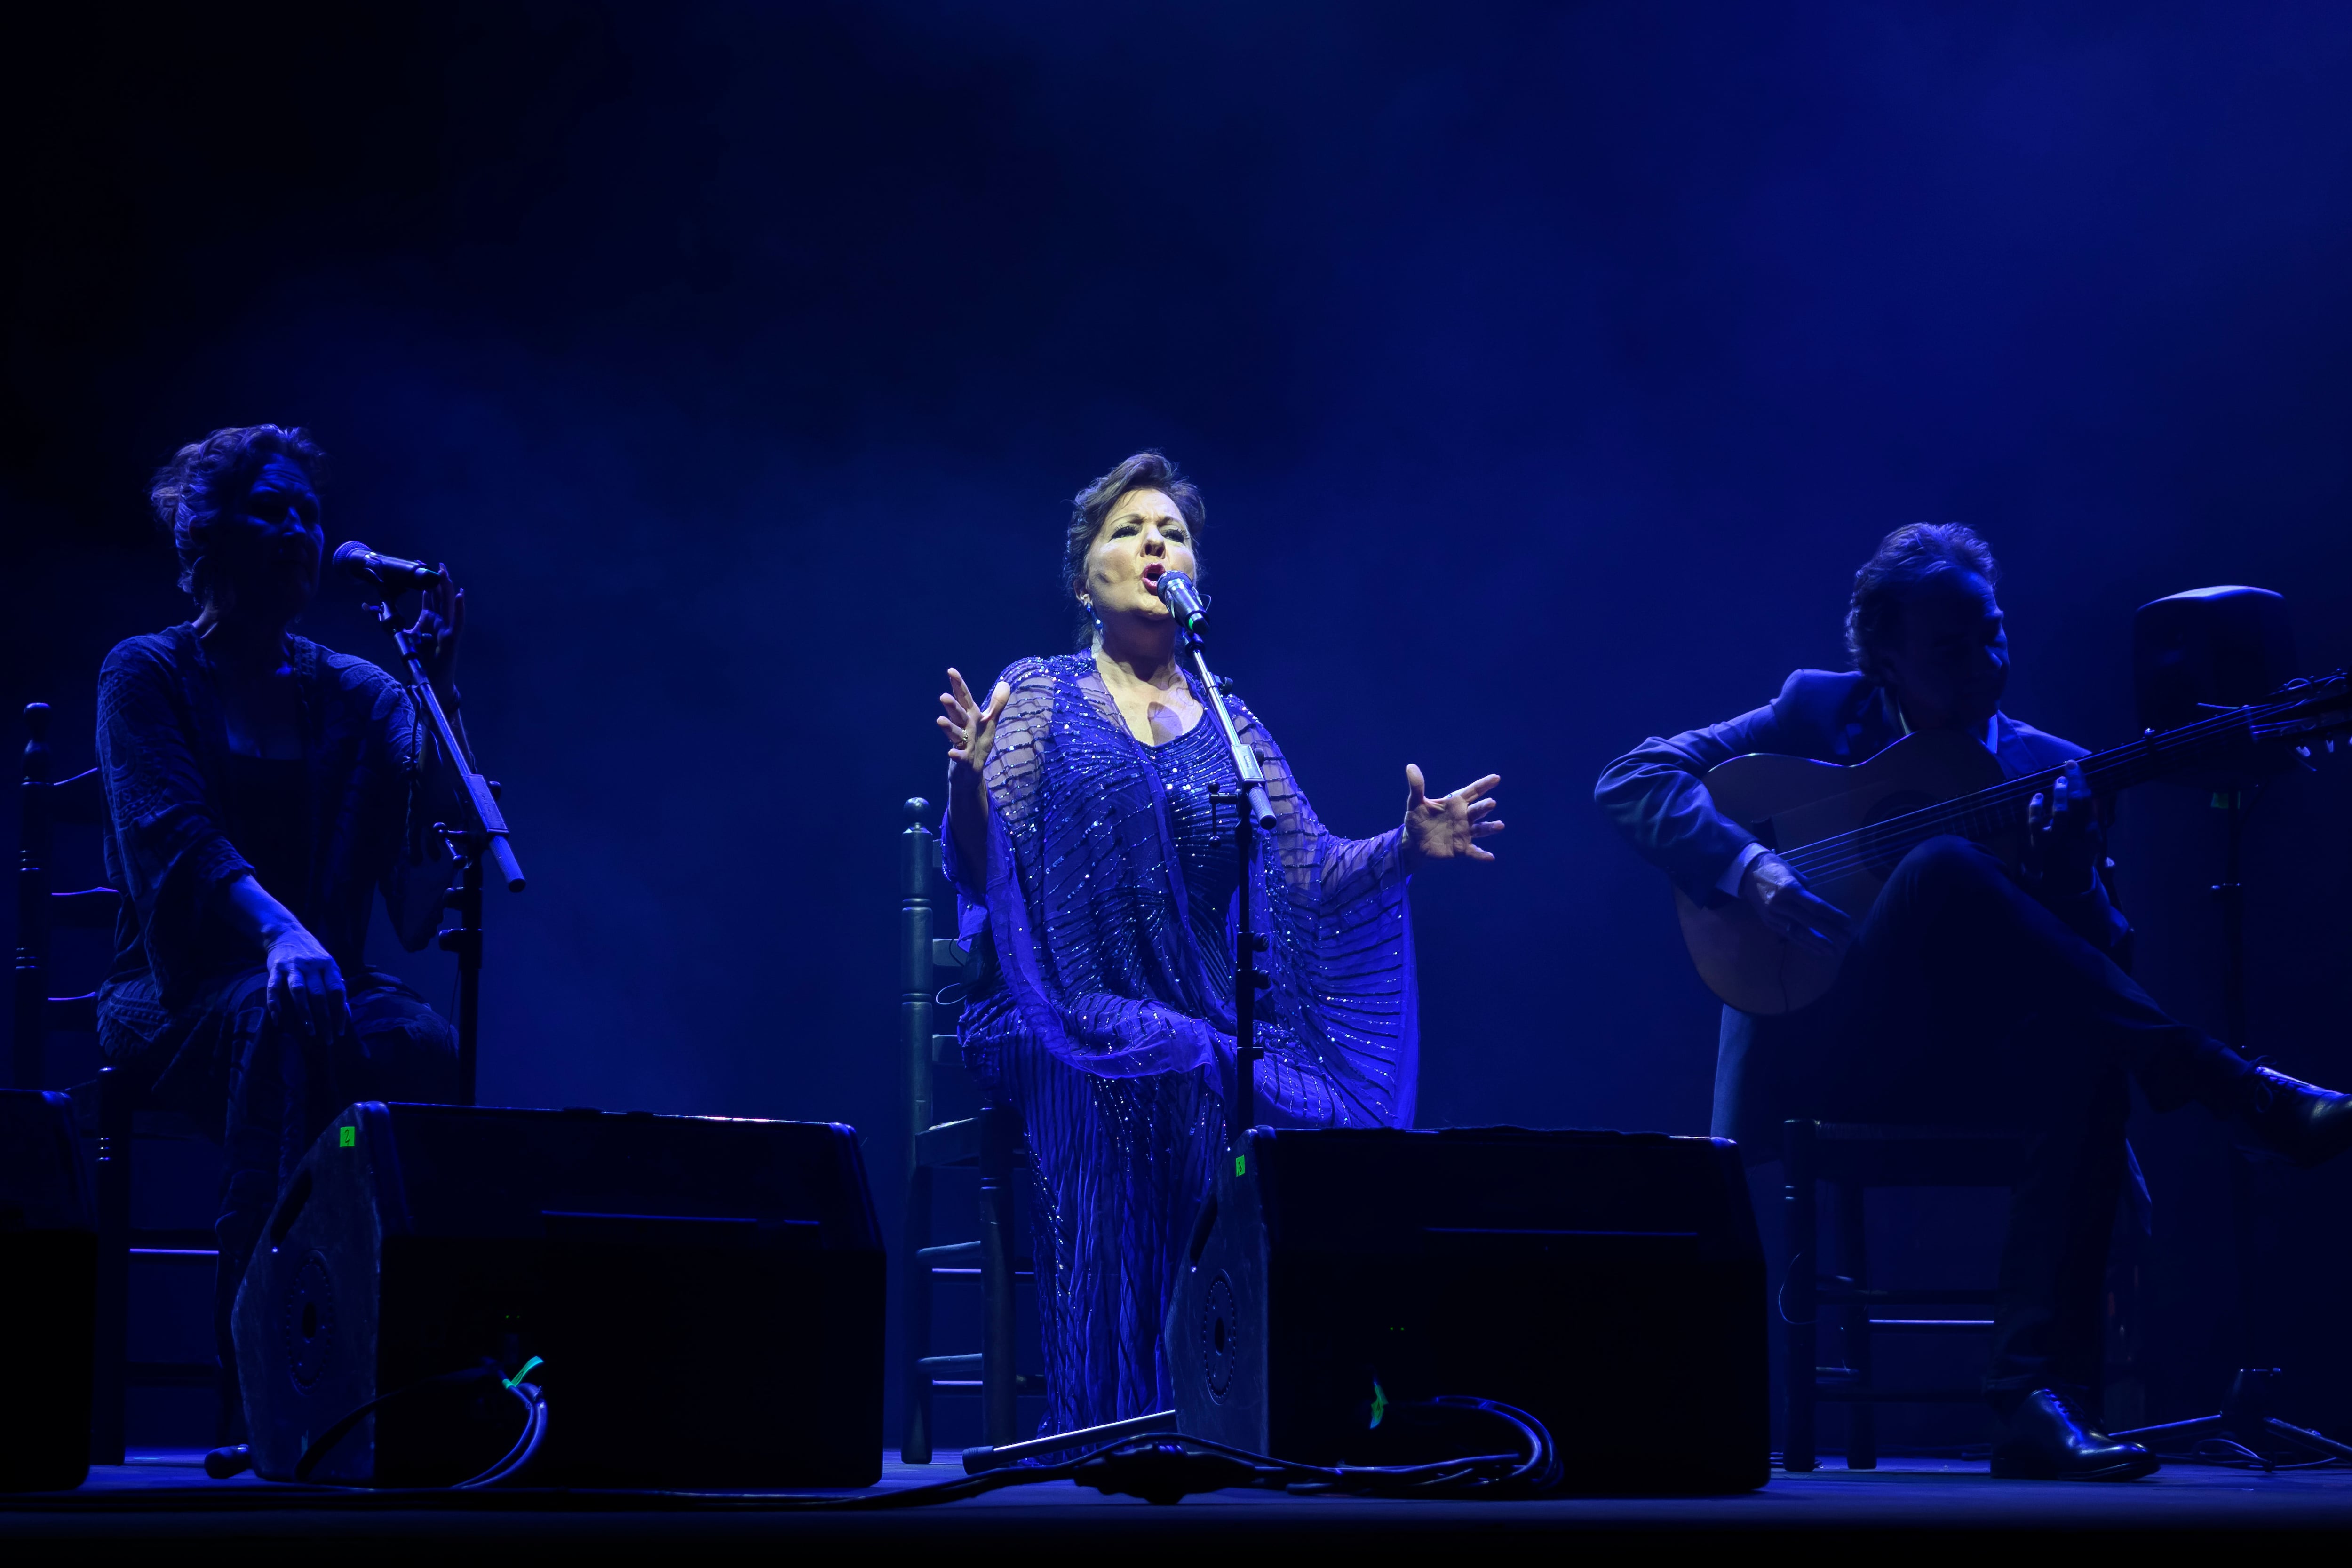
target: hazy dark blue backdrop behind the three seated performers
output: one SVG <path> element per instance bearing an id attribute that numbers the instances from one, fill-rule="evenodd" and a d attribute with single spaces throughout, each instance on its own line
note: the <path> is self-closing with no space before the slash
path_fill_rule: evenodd
<path id="1" fill-rule="evenodd" d="M 1505 776 L 1416 886 L 1425 1121 L 1705 1126 L 1712 1004 L 1588 792 L 1839 663 L 1889 527 L 1999 548 L 2009 708 L 2133 731 L 2129 618 L 2352 661 L 2352 12 L 2270 5 L 402 5 L 9 49 L 9 703 L 85 748 L 179 614 L 141 482 L 308 423 L 332 538 L 470 588 L 485 1100 L 828 1117 L 894 1208 L 896 802 L 941 668 L 1063 646 L 1063 498 L 1209 494 L 1225 661 L 1317 809 Z M 322 639 L 374 651 L 341 599 Z M 2256 1048 L 2352 1079 L 2347 776 L 2253 835 Z M 2147 790 L 2143 973 L 2213 1020 L 2216 823 Z M 388 943 L 386 943 L 388 945 Z M 442 959 L 412 961 L 440 994 Z M 2220 1133 L 2138 1126 L 2154 1415 L 2230 1366 Z M 2352 1171 L 2279 1190 L 2336 1229 Z M 2352 1425 L 2352 1267 L 2281 1262 Z"/>

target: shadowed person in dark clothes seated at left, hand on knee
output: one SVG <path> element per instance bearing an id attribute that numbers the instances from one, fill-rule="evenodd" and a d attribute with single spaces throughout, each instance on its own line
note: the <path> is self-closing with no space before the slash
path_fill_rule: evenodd
<path id="1" fill-rule="evenodd" d="M 449 1027 L 367 969 L 376 889 L 412 952 L 430 940 L 454 780 L 407 693 L 289 625 L 318 595 L 320 451 L 303 430 L 214 430 L 155 475 L 188 625 L 115 644 L 99 670 L 106 870 L 122 889 L 99 1046 L 165 1105 L 221 1128 L 214 1328 L 278 1187 L 350 1100 L 447 1100 Z M 412 630 L 449 712 L 463 595 Z M 442 804 L 447 802 L 447 804 Z"/>

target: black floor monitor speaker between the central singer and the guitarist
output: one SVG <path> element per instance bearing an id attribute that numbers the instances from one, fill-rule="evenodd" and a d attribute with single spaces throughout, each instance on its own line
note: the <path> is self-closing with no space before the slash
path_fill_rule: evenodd
<path id="1" fill-rule="evenodd" d="M 1529 1128 L 1254 1128 L 1164 1328 L 1183 1432 L 1310 1465 L 1395 1458 L 1439 1394 L 1541 1418 L 1566 1483 L 1771 1476 L 1764 1253 L 1733 1145 Z"/>

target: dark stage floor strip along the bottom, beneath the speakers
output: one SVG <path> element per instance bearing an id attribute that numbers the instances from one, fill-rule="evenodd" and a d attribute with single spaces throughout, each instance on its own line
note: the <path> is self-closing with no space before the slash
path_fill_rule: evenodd
<path id="1" fill-rule="evenodd" d="M 2131 1535 L 2352 1528 L 2352 1469 L 2258 1474 L 2176 1465 L 2150 1481 L 2063 1486 L 1994 1481 L 1980 1462 L 1889 1460 L 1875 1472 L 1773 1472 L 1771 1486 L 1740 1497 L 1559 1497 L 1548 1502 L 1371 1502 L 1230 1490 L 1152 1507 L 1103 1497 L 1068 1481 L 1016 1486 L 927 1509 L 809 1514 L 762 1509 L 755 1497 L 649 1505 L 642 1497 L 482 1493 L 463 1507 L 383 1507 L 367 1495 L 294 1495 L 240 1476 L 207 1481 L 195 1453 L 134 1455 L 94 1469 L 78 1493 L 0 1497 L 0 1544 L 92 1547 L 136 1540 L 235 1549 L 240 1561 L 273 1561 L 329 1544 L 336 1561 L 414 1554 L 440 1540 L 727 1552 L 776 1544 L 856 1544 L 938 1537 L 969 1544 L 1103 1544 L 1124 1559 L 1192 1556 L 1202 1547 L 1341 1544 L 1352 1552 L 1446 1544 L 1510 1552 L 1557 1535 L 1632 1533 L 1929 1533 L 2098 1530 Z M 880 1490 L 957 1474 L 953 1465 L 898 1465 Z M 1924 1544 L 1924 1540 L 1919 1542 Z"/>

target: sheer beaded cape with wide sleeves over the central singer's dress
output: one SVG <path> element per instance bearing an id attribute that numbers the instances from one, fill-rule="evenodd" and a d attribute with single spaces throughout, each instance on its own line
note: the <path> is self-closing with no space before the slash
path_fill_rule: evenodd
<path id="1" fill-rule="evenodd" d="M 943 846 L 960 926 L 985 926 L 1004 976 L 981 1027 L 1098 1077 L 1214 1067 L 1230 1086 L 1230 969 L 1195 940 L 1162 785 L 1089 677 L 1077 658 L 1004 672 L 1014 696 L 985 769 L 988 865 L 960 867 Z M 1397 835 L 1327 832 L 1272 738 L 1247 710 L 1237 722 L 1277 813 L 1251 891 L 1275 978 L 1258 1013 L 1265 1100 L 1312 1124 L 1404 1126 L 1418 1037 Z M 971 1030 L 964 1044 L 976 1060 Z"/>

